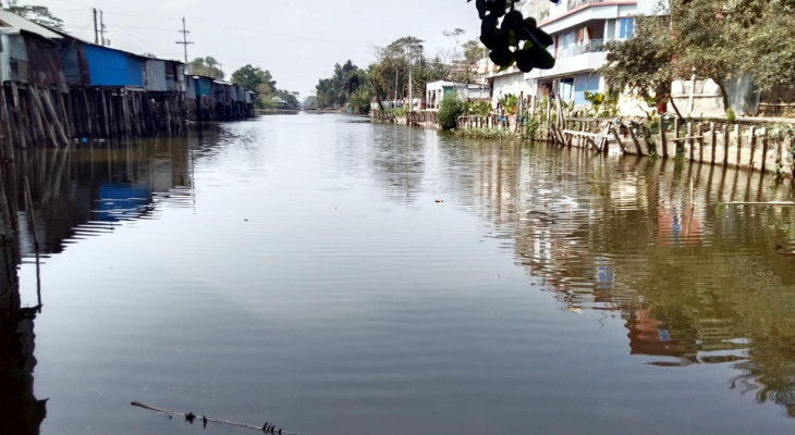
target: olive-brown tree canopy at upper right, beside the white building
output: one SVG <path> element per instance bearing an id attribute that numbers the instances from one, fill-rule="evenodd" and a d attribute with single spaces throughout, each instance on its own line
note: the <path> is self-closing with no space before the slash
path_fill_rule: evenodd
<path id="1" fill-rule="evenodd" d="M 631 39 L 610 42 L 599 70 L 614 86 L 668 95 L 674 78 L 711 78 L 729 108 L 726 82 L 749 74 L 760 89 L 795 78 L 795 2 L 670 0 L 665 17 L 637 17 Z"/>

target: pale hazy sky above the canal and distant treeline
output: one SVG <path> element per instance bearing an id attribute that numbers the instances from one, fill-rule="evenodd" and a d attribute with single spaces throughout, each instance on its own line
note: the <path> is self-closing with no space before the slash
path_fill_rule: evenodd
<path id="1" fill-rule="evenodd" d="M 477 37 L 480 22 L 466 0 L 22 0 L 61 17 L 69 32 L 94 40 L 91 8 L 105 12 L 111 46 L 183 59 L 182 16 L 191 32 L 188 58 L 213 55 L 228 74 L 250 63 L 270 70 L 282 89 L 306 97 L 337 62 L 366 66 L 374 46 L 402 36 L 425 39 L 426 50 L 450 50 L 442 32 Z"/>

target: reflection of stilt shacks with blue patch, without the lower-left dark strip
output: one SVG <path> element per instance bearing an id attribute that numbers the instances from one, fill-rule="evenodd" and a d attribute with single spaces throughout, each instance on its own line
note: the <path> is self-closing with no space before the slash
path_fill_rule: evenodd
<path id="1" fill-rule="evenodd" d="M 166 138 L 117 146 L 62 148 L 21 152 L 17 189 L 27 176 L 44 253 L 63 249 L 75 234 L 108 231 L 109 223 L 148 215 L 159 202 L 182 202 L 193 196 L 189 142 Z M 51 169 L 40 176 L 41 167 Z M 20 190 L 21 191 L 21 190 Z M 24 203 L 23 203 L 24 206 Z M 24 210 L 23 210 L 24 211 Z M 33 254 L 26 213 L 20 213 L 23 254 Z"/>

